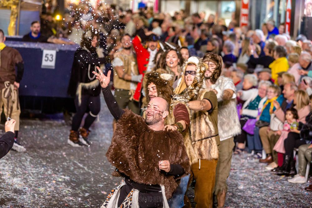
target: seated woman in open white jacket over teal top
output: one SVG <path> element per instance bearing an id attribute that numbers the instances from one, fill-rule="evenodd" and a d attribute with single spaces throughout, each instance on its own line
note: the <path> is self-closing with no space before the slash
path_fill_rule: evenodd
<path id="1" fill-rule="evenodd" d="M 266 101 L 266 91 L 268 87 L 271 86 L 271 82 L 269 81 L 261 81 L 259 83 L 258 89 L 250 89 L 250 90 L 241 90 L 237 93 L 240 96 L 241 100 L 244 100 L 245 103 L 240 111 L 241 119 L 240 124 L 241 128 L 244 127 L 245 123 L 249 119 L 256 119 L 261 112 L 264 102 Z M 235 137 L 235 141 L 237 142 L 237 148 L 234 151 L 234 154 L 240 154 L 245 148 L 245 142 L 247 139 L 247 133 L 243 129 L 241 130 L 241 134 Z"/>

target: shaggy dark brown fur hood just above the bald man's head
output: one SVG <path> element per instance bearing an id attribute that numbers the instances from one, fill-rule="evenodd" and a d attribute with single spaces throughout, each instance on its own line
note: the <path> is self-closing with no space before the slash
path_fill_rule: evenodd
<path id="1" fill-rule="evenodd" d="M 147 87 L 152 82 L 156 85 L 158 97 L 165 99 L 168 104 L 171 103 L 171 95 L 173 95 L 173 88 L 170 85 L 170 80 L 172 80 L 173 75 L 170 74 L 160 74 L 159 72 L 149 72 L 144 76 L 145 79 L 145 96 L 146 103 L 149 103 L 149 91 Z"/>

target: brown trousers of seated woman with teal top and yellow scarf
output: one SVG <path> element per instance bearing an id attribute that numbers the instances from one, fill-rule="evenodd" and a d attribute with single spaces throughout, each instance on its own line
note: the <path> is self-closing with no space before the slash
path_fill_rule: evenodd
<path id="1" fill-rule="evenodd" d="M 259 135 L 262 142 L 262 146 L 266 154 L 272 154 L 274 162 L 277 164 L 277 152 L 273 150 L 274 145 L 277 140 L 280 138 L 279 135 L 274 135 L 274 131 L 270 130 L 268 132 L 269 127 L 265 126 L 260 128 Z"/>

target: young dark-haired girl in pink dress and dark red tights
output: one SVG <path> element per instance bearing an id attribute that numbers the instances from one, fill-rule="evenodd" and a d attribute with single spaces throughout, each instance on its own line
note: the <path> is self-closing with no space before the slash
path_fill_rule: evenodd
<path id="1" fill-rule="evenodd" d="M 282 166 L 283 164 L 283 156 L 285 154 L 284 141 L 290 132 L 290 129 L 298 128 L 298 112 L 294 108 L 290 108 L 286 110 L 285 113 L 285 122 L 282 131 L 276 131 L 275 135 L 280 135 L 280 138 L 276 142 L 273 150 L 277 152 L 278 155 L 278 166 Z"/>

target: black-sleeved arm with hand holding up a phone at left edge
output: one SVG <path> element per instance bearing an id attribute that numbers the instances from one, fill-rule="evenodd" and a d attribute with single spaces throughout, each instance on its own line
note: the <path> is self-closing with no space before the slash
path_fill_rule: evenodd
<path id="1" fill-rule="evenodd" d="M 0 137 L 0 159 L 4 157 L 14 144 L 14 127 L 16 120 L 11 119 L 5 122 L 5 134 Z"/>

